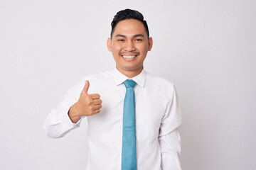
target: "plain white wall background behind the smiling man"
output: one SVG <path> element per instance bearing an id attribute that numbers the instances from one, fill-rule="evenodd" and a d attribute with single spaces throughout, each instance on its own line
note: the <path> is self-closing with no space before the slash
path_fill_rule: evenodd
<path id="1" fill-rule="evenodd" d="M 85 169 L 86 121 L 57 140 L 46 137 L 43 121 L 82 76 L 114 68 L 106 40 L 124 8 L 149 24 L 146 71 L 176 85 L 183 169 L 255 169 L 256 3 L 249 0 L 1 0 L 0 169 Z"/>

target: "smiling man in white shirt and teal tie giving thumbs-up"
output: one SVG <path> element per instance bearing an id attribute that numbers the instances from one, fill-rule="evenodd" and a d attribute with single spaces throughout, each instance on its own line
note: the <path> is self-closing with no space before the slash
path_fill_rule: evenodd
<path id="1" fill-rule="evenodd" d="M 181 169 L 174 84 L 143 67 L 152 45 L 142 13 L 119 11 L 107 40 L 116 68 L 83 77 L 46 118 L 49 137 L 63 137 L 87 118 L 87 170 Z"/>

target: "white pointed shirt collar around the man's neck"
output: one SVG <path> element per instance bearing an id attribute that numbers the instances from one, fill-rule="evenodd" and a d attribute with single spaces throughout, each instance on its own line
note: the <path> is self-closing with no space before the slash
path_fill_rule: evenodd
<path id="1" fill-rule="evenodd" d="M 113 73 L 114 81 L 117 86 L 119 84 L 122 84 L 125 80 L 129 79 L 124 74 L 119 72 L 117 68 L 114 69 Z M 138 74 L 136 77 L 132 77 L 131 79 L 135 81 L 139 86 L 144 87 L 146 80 L 146 71 L 144 70 L 144 68 L 142 69 L 142 72 L 140 74 Z"/>

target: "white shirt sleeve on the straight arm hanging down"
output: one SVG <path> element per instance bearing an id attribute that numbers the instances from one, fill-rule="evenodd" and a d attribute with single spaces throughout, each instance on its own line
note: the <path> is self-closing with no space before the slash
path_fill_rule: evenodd
<path id="1" fill-rule="evenodd" d="M 166 112 L 161 119 L 159 131 L 161 169 L 181 170 L 179 160 L 181 154 L 181 137 L 178 134 L 178 127 L 181 125 L 181 110 L 178 105 L 178 98 L 174 86 L 171 94 L 171 100 L 166 106 Z"/>

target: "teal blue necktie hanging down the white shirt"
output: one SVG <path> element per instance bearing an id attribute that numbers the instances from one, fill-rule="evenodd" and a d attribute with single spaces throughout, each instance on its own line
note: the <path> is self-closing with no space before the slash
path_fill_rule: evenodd
<path id="1" fill-rule="evenodd" d="M 126 94 L 124 98 L 123 135 L 122 135 L 122 170 L 136 170 L 136 130 L 135 130 L 135 100 L 132 79 L 124 81 Z"/>

